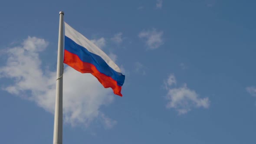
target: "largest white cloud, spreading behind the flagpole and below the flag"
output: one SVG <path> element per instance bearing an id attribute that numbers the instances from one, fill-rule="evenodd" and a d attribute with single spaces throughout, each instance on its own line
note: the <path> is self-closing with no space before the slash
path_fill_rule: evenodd
<path id="1" fill-rule="evenodd" d="M 2 85 L 11 94 L 36 102 L 39 107 L 54 113 L 56 72 L 45 71 L 39 59 L 39 51 L 48 43 L 44 39 L 28 37 L 22 46 L 7 49 L 8 59 L 0 67 L 0 77 L 13 79 L 13 84 Z M 81 74 L 71 67 L 63 75 L 63 117 L 71 125 L 85 125 L 99 119 L 105 127 L 116 123 L 99 109 L 110 104 L 114 96 L 91 74 Z"/>

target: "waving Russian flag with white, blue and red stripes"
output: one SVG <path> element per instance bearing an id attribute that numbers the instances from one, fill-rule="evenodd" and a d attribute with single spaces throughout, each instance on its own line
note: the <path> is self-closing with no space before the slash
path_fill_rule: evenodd
<path id="1" fill-rule="evenodd" d="M 81 73 L 91 73 L 104 88 L 121 94 L 125 82 L 119 67 L 101 49 L 65 23 L 64 63 Z"/>

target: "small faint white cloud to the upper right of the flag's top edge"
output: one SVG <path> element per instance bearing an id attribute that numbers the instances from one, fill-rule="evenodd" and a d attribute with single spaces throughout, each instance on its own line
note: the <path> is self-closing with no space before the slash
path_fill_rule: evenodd
<path id="1" fill-rule="evenodd" d="M 162 39 L 163 33 L 163 31 L 151 29 L 147 31 L 141 31 L 138 36 L 140 38 L 146 39 L 146 44 L 150 49 L 157 49 L 164 44 Z"/>

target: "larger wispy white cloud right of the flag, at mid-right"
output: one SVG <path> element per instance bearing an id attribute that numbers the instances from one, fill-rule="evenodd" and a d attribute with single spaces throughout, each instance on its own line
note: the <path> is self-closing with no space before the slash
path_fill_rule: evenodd
<path id="1" fill-rule="evenodd" d="M 169 86 L 176 83 L 175 77 L 171 74 L 165 81 Z M 208 108 L 210 106 L 209 98 L 199 98 L 199 95 L 184 84 L 179 88 L 167 87 L 166 98 L 168 100 L 166 108 L 174 108 L 178 113 L 186 114 L 192 108 Z"/>

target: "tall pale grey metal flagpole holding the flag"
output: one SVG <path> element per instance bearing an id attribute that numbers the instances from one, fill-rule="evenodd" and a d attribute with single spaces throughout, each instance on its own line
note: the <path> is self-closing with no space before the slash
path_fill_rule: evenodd
<path id="1" fill-rule="evenodd" d="M 63 16 L 64 12 L 60 11 L 53 144 L 62 144 Z"/>

